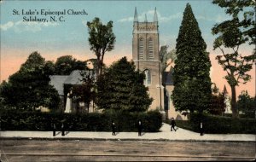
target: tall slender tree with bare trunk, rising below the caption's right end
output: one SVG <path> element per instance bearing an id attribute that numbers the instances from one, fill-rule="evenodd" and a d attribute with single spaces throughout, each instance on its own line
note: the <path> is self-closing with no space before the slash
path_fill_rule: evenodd
<path id="1" fill-rule="evenodd" d="M 96 76 L 102 74 L 102 66 L 104 55 L 113 49 L 115 36 L 113 34 L 113 21 L 108 21 L 107 25 L 103 25 L 99 18 L 95 18 L 91 22 L 87 22 L 88 38 L 90 50 L 92 50 L 97 57 Z"/>

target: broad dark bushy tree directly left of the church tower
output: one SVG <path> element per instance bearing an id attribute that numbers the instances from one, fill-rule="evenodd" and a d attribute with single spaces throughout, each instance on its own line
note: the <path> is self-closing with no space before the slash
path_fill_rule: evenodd
<path id="1" fill-rule="evenodd" d="M 97 80 L 96 104 L 102 109 L 144 112 L 153 99 L 143 84 L 145 75 L 134 62 L 123 57 L 114 62 Z"/>

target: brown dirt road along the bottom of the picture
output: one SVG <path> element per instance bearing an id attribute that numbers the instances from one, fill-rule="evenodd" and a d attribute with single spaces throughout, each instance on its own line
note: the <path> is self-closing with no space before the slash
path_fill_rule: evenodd
<path id="1" fill-rule="evenodd" d="M 256 153 L 255 145 L 255 142 L 1 140 L 1 160 L 253 160 Z"/>

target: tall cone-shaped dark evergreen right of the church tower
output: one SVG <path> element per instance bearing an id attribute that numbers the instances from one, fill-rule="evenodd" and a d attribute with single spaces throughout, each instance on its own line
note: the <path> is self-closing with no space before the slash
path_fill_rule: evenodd
<path id="1" fill-rule="evenodd" d="M 207 44 L 189 3 L 183 12 L 176 43 L 172 101 L 178 111 L 202 113 L 211 104 L 212 90 Z"/>

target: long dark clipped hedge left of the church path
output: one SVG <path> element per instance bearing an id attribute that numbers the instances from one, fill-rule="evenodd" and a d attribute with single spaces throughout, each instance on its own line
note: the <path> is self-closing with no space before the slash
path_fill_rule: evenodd
<path id="1" fill-rule="evenodd" d="M 143 123 L 147 132 L 159 131 L 162 119 L 158 111 L 147 113 L 105 112 L 105 113 L 40 113 L 20 111 L 0 111 L 1 130 L 61 130 L 64 123 L 66 130 L 72 131 L 111 131 L 115 122 L 117 131 L 137 131 L 137 122 Z"/>

